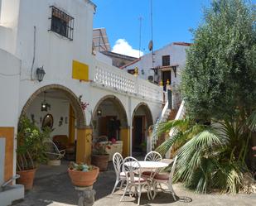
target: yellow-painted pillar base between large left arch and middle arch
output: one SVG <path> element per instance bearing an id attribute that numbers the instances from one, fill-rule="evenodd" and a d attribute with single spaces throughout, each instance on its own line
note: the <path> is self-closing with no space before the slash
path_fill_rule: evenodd
<path id="1" fill-rule="evenodd" d="M 77 129 L 76 162 L 90 164 L 92 132 L 93 130 L 89 127 Z"/>

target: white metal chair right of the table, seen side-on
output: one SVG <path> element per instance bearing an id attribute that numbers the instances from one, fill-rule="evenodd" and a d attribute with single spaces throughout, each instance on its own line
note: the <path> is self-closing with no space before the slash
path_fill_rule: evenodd
<path id="1" fill-rule="evenodd" d="M 170 174 L 157 174 L 153 177 L 153 189 L 154 189 L 154 195 L 153 199 L 157 195 L 157 189 L 162 189 L 161 184 L 166 184 L 168 189 L 162 189 L 164 192 L 169 192 L 172 194 L 173 199 L 176 201 L 176 194 L 172 188 L 172 177 L 176 168 L 176 159 L 177 156 L 175 157 L 173 164 L 171 166 L 171 172 Z M 160 185 L 160 188 L 157 188 L 157 184 Z"/>

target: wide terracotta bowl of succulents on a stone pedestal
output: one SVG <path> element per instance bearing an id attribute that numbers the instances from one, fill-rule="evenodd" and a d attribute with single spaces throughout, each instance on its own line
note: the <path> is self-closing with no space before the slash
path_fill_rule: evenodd
<path id="1" fill-rule="evenodd" d="M 88 187 L 93 185 L 97 180 L 99 175 L 99 167 L 71 162 L 68 168 L 68 173 L 70 175 L 72 184 L 79 187 Z"/>

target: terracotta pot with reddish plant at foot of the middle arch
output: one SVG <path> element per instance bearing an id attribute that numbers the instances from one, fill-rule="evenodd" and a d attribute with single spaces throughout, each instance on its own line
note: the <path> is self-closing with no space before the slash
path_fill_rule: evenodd
<path id="1" fill-rule="evenodd" d="M 109 154 L 106 151 L 106 147 L 109 147 L 108 143 L 96 142 L 94 144 L 91 162 L 93 165 L 98 166 L 100 171 L 108 170 Z"/>

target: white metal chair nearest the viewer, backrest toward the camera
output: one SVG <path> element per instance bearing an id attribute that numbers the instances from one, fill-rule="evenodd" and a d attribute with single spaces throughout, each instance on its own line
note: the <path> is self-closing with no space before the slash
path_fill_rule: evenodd
<path id="1" fill-rule="evenodd" d="M 141 194 L 142 194 L 142 186 L 147 186 L 147 198 L 150 199 L 149 194 L 149 184 L 147 183 L 147 178 L 142 177 L 141 166 L 135 158 L 132 156 L 128 156 L 123 160 L 123 172 L 126 175 L 126 187 L 124 189 L 123 196 L 129 192 L 131 194 L 131 189 L 134 187 L 134 194 L 138 194 L 138 205 L 140 204 Z"/>

